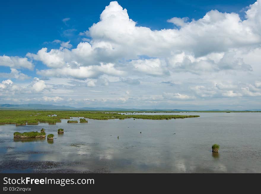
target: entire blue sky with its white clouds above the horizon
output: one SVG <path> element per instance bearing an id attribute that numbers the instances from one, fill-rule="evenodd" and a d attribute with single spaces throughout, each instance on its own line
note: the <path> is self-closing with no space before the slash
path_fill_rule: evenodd
<path id="1" fill-rule="evenodd" d="M 260 1 L 109 4 L 1 2 L 0 103 L 260 108 Z"/>

